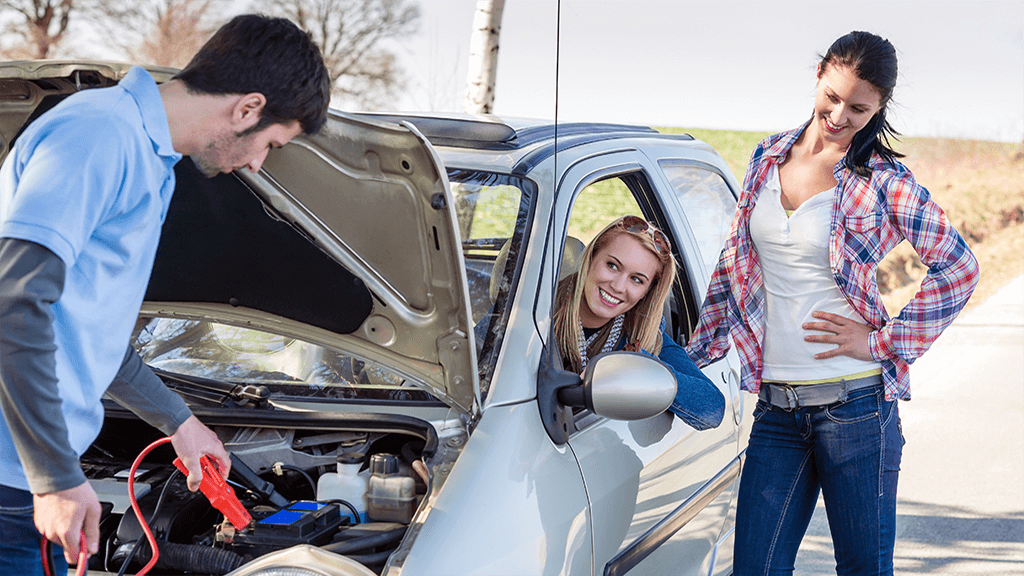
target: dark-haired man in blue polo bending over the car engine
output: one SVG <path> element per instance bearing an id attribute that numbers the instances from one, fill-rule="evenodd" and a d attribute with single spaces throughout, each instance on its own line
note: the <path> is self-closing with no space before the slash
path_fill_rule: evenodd
<path id="1" fill-rule="evenodd" d="M 207 176 L 255 172 L 271 147 L 318 130 L 329 98 L 308 34 L 243 15 L 165 84 L 132 68 L 18 136 L 0 168 L 0 574 L 38 573 L 41 534 L 68 562 L 80 534 L 97 551 L 100 506 L 78 458 L 104 393 L 171 437 L 189 489 L 204 455 L 227 474 L 216 435 L 126 349 L 173 167 L 189 156 Z"/>

